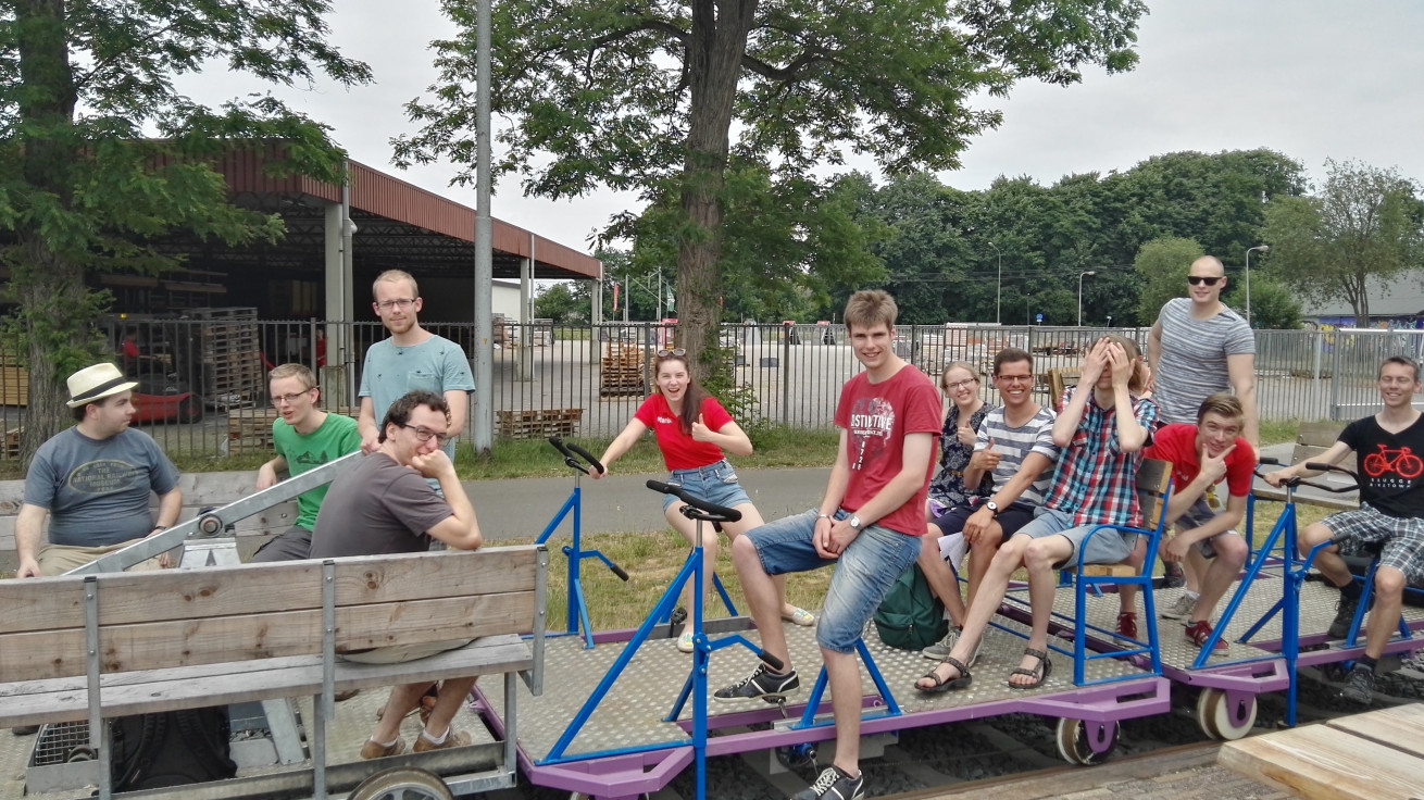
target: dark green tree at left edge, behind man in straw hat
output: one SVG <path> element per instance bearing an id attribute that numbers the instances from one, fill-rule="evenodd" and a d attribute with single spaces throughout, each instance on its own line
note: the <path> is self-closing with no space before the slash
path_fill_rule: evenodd
<path id="1" fill-rule="evenodd" d="M 0 3 L 0 231 L 11 320 L 30 367 L 24 458 L 64 424 L 66 374 L 95 357 L 107 296 L 93 270 L 157 272 L 172 231 L 229 245 L 275 239 L 275 216 L 228 204 L 206 161 L 283 140 L 273 168 L 336 178 L 325 128 L 272 97 L 208 108 L 174 78 L 202 68 L 272 84 L 370 80 L 326 43 L 326 0 L 10 0 Z M 155 138 L 141 138 L 155 132 Z M 281 162 L 279 162 L 281 161 Z"/>

